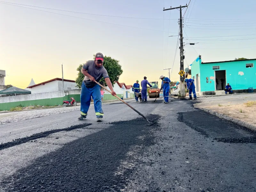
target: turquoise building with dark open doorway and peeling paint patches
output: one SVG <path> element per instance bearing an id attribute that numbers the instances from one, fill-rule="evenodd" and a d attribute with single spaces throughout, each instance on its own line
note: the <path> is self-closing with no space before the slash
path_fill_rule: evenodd
<path id="1" fill-rule="evenodd" d="M 191 64 L 191 77 L 195 78 L 198 95 L 223 93 L 229 83 L 234 93 L 256 92 L 256 59 L 202 62 L 201 55 Z M 225 94 L 225 92 L 224 92 Z"/>

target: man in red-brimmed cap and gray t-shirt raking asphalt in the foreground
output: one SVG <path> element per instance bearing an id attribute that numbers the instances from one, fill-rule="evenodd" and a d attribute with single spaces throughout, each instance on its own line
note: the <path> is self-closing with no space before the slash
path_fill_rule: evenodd
<path id="1" fill-rule="evenodd" d="M 79 120 L 86 118 L 92 97 L 97 122 L 102 121 L 104 113 L 101 108 L 102 103 L 100 85 L 94 83 L 95 81 L 99 82 L 103 77 L 111 90 L 111 94 L 113 96 L 116 95 L 116 92 L 114 92 L 112 83 L 109 79 L 108 72 L 103 67 L 103 59 L 102 53 L 96 53 L 95 59 L 87 61 L 81 69 L 81 72 L 85 75 L 85 77 L 81 89 L 81 116 L 78 117 Z"/>

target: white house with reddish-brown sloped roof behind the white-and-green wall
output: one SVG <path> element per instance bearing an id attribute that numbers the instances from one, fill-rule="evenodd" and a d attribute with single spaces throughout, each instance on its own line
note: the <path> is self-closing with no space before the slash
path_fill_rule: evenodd
<path id="1" fill-rule="evenodd" d="M 27 88 L 31 89 L 31 94 L 63 91 L 62 79 L 61 78 L 51 79 L 43 83 L 28 86 Z M 74 80 L 64 79 L 64 91 L 68 91 L 71 89 L 77 89 L 76 82 Z"/>

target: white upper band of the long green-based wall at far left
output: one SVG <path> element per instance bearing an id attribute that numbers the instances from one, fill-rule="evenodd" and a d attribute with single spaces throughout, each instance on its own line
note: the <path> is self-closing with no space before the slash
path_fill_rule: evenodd
<path id="1" fill-rule="evenodd" d="M 28 95 L 17 95 L 9 97 L 0 97 L 0 103 L 16 102 L 16 101 L 28 101 L 28 100 L 37 100 L 37 99 L 48 99 L 48 98 L 57 98 L 64 97 L 65 94 L 60 92 L 44 92 Z"/>

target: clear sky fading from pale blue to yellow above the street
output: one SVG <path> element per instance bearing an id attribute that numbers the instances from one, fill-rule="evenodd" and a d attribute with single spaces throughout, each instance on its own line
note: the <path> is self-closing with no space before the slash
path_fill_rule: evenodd
<path id="1" fill-rule="evenodd" d="M 96 52 L 120 61 L 124 72 L 119 82 L 133 84 L 143 76 L 157 81 L 161 75 L 168 76 L 164 68 L 172 68 L 171 80 L 179 80 L 179 50 L 175 60 L 174 55 L 180 14 L 178 10 L 163 12 L 163 7 L 189 1 L 5 0 L 71 12 L 19 5 L 48 11 L 43 12 L 0 2 L 0 69 L 6 70 L 5 84 L 25 88 L 31 78 L 41 83 L 61 77 L 62 63 L 64 78 L 75 80 L 78 65 Z M 182 11 L 186 11 L 184 42 L 199 43 L 194 48 L 185 45 L 185 67 L 198 54 L 203 62 L 256 58 L 255 7 L 255 0 L 191 0 L 188 10 Z"/>

